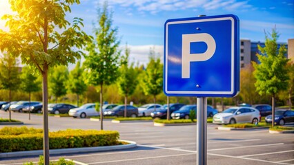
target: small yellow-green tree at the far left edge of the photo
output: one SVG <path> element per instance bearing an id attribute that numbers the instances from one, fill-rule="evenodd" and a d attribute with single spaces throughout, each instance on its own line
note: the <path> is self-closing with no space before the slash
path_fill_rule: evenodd
<path id="1" fill-rule="evenodd" d="M 19 88 L 21 83 L 19 78 L 19 67 L 17 67 L 17 60 L 8 53 L 3 54 L 0 58 L 0 88 L 8 89 L 9 102 L 11 102 L 11 91 Z M 11 120 L 11 110 L 9 105 L 9 120 Z"/>

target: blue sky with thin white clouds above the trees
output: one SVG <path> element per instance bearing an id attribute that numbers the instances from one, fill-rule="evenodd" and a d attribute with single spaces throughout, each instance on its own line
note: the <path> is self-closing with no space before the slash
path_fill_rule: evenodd
<path id="1" fill-rule="evenodd" d="M 84 19 L 84 30 L 92 34 L 92 23 L 97 22 L 97 8 L 104 0 L 80 0 L 72 5 L 68 21 L 73 17 Z M 1 5 L 0 17 L 8 8 Z M 294 0 L 109 0 L 113 11 L 113 25 L 119 29 L 121 46 L 128 43 L 132 61 L 146 63 L 150 47 L 162 55 L 164 23 L 167 19 L 235 14 L 240 20 L 240 39 L 264 41 L 266 32 L 276 26 L 280 33 L 278 42 L 294 39 Z M 2 6 L 2 7 L 1 7 Z M 0 28 L 3 23 L 0 22 Z"/>

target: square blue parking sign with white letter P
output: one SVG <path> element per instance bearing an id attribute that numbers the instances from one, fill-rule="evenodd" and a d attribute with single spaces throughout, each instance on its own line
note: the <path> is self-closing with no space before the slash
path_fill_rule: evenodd
<path id="1" fill-rule="evenodd" d="M 166 96 L 233 97 L 238 92 L 238 17 L 228 14 L 167 20 Z"/>

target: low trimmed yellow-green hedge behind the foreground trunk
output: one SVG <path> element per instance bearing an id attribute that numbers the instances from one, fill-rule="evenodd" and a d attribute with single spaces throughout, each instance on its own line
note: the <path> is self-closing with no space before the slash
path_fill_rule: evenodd
<path id="1" fill-rule="evenodd" d="M 21 127 L 22 130 L 25 126 Z M 23 133 L 8 132 L 8 128 L 0 129 L 0 153 L 13 151 L 32 151 L 43 149 L 43 133 L 39 129 L 28 129 Z M 13 130 L 12 128 L 10 128 Z M 15 128 L 17 129 L 17 128 Z M 1 132 L 6 132 L 2 133 Z M 97 131 L 67 129 L 49 133 L 49 148 L 77 148 L 88 146 L 110 146 L 119 144 L 117 131 Z"/>

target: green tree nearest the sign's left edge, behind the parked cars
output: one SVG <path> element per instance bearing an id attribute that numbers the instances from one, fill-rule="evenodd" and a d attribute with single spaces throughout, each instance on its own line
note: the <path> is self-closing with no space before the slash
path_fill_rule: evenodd
<path id="1" fill-rule="evenodd" d="M 155 56 L 155 50 L 150 49 L 149 63 L 141 79 L 141 87 L 145 95 L 152 95 L 156 103 L 156 96 L 162 91 L 163 65 L 160 58 Z"/>

